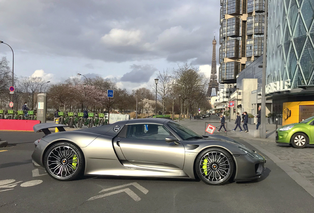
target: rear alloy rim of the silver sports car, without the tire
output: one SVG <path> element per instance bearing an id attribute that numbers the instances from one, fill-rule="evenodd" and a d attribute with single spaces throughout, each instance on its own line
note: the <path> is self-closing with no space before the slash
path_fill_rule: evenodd
<path id="1" fill-rule="evenodd" d="M 56 178 L 70 178 L 77 172 L 79 166 L 78 153 L 70 146 L 57 146 L 50 151 L 46 166 Z"/>

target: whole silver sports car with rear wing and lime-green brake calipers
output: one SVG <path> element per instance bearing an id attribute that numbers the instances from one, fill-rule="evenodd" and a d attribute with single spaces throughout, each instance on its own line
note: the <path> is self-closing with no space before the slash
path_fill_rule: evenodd
<path id="1" fill-rule="evenodd" d="M 57 127 L 59 133 L 49 131 Z M 65 125 L 34 126 L 33 164 L 57 180 L 85 176 L 200 178 L 224 184 L 260 178 L 265 158 L 223 136 L 201 136 L 168 119 L 144 118 L 65 131 Z"/>

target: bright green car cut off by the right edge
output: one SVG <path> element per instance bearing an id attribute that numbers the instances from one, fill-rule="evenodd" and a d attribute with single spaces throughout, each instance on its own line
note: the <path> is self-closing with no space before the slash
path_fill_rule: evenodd
<path id="1" fill-rule="evenodd" d="M 304 148 L 308 143 L 314 144 L 314 116 L 300 123 L 278 128 L 276 143 L 290 143 L 295 148 Z"/>

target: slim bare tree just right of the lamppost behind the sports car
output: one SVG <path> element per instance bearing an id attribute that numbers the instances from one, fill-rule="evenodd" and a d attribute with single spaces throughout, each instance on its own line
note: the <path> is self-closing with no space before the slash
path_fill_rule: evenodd
<path id="1" fill-rule="evenodd" d="M 164 114 L 165 102 L 168 100 L 170 92 L 172 91 L 172 76 L 169 69 L 167 68 L 162 72 L 159 71 L 159 73 L 157 74 L 157 78 L 159 79 L 159 82 L 157 84 L 157 93 L 161 98 L 162 114 Z"/>

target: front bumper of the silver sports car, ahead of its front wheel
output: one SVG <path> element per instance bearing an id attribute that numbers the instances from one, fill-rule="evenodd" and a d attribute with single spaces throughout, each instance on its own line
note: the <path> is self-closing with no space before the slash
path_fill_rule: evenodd
<path id="1" fill-rule="evenodd" d="M 253 158 L 248 155 L 239 155 L 235 156 L 235 159 L 235 181 L 248 181 L 263 176 L 266 169 L 266 159 L 261 154 L 258 154 L 258 158 Z"/>

